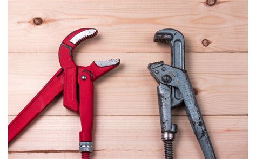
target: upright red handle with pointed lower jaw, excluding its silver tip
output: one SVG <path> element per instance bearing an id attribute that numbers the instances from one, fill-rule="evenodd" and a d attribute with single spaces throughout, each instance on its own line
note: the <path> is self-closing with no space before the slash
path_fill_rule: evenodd
<path id="1" fill-rule="evenodd" d="M 103 76 L 119 63 L 99 67 L 95 62 L 90 66 L 78 67 L 77 81 L 79 84 L 79 115 L 82 131 L 79 133 L 80 142 L 92 142 L 93 131 L 93 82 Z"/>

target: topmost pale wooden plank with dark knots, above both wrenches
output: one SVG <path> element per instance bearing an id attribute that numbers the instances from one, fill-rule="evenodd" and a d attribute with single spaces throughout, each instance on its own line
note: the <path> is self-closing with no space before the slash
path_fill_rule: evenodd
<path id="1" fill-rule="evenodd" d="M 35 26 L 35 17 L 43 24 Z M 9 52 L 57 52 L 81 27 L 99 30 L 81 52 L 167 52 L 168 45 L 153 43 L 163 28 L 181 31 L 189 52 L 247 52 L 247 1 L 9 1 Z"/>

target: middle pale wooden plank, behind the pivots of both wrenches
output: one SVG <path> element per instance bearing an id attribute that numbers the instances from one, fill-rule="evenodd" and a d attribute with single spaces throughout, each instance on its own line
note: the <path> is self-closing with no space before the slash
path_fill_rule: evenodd
<path id="1" fill-rule="evenodd" d="M 96 115 L 158 115 L 158 84 L 147 64 L 170 64 L 170 53 L 76 55 L 84 66 L 113 57 L 121 59 L 120 66 L 95 82 Z M 186 61 L 203 114 L 247 114 L 247 53 L 187 53 Z M 9 115 L 17 115 L 59 67 L 57 53 L 9 54 Z M 43 115 L 75 115 L 62 104 L 58 98 Z"/>

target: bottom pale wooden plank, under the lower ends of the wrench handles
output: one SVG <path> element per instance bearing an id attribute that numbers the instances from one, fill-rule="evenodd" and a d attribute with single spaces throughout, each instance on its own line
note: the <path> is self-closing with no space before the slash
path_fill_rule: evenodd
<path id="1" fill-rule="evenodd" d="M 247 116 L 204 119 L 217 158 L 247 158 Z M 9 157 L 78 157 L 79 123 L 79 117 L 41 116 L 9 146 Z M 179 126 L 175 158 L 204 158 L 187 117 L 174 117 L 174 123 Z M 94 158 L 163 158 L 164 154 L 158 116 L 95 117 L 94 141 Z"/>

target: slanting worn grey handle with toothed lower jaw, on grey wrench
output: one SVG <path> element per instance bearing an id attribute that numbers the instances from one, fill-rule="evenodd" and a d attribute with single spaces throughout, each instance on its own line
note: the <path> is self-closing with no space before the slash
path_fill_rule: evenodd
<path id="1" fill-rule="evenodd" d="M 163 69 L 165 68 L 165 69 Z M 205 158 L 215 159 L 213 146 L 208 135 L 203 116 L 201 115 L 196 96 L 190 79 L 187 76 L 186 70 L 171 67 L 164 64 L 163 61 L 149 64 L 151 75 L 157 80 L 159 84 L 174 86 L 179 89 L 183 101 L 185 103 L 185 111 L 190 120 L 198 142 L 203 150 Z"/>

